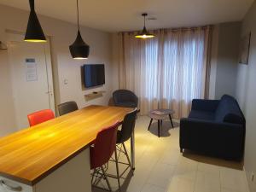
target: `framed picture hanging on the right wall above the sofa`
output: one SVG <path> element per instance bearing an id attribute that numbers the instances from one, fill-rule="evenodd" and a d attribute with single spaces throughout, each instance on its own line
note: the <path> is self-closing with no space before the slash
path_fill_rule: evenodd
<path id="1" fill-rule="evenodd" d="M 240 43 L 239 63 L 248 64 L 250 52 L 251 32 L 248 32 Z"/>

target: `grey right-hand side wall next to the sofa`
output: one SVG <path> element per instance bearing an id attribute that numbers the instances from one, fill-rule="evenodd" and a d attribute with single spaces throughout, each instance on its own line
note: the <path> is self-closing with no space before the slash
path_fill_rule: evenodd
<path id="1" fill-rule="evenodd" d="M 250 177 L 256 174 L 256 2 L 242 22 L 241 37 L 247 32 L 252 32 L 249 63 L 238 66 L 236 96 L 247 120 L 244 166 L 250 190 L 255 192 L 256 179 L 252 182 Z"/>

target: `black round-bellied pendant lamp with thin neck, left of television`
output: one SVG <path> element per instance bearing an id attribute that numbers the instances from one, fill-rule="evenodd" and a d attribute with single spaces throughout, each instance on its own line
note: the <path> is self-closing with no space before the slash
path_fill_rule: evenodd
<path id="1" fill-rule="evenodd" d="M 69 46 L 70 53 L 73 59 L 87 59 L 90 53 L 90 47 L 84 43 L 80 33 L 79 26 L 79 0 L 77 0 L 77 12 L 78 12 L 78 35 L 72 45 Z"/>

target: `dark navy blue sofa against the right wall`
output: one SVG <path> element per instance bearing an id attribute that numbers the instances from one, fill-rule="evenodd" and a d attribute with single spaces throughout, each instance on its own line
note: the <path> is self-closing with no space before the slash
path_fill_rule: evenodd
<path id="1" fill-rule="evenodd" d="M 244 151 L 245 118 L 236 99 L 192 101 L 188 118 L 180 122 L 180 149 L 241 160 Z"/>

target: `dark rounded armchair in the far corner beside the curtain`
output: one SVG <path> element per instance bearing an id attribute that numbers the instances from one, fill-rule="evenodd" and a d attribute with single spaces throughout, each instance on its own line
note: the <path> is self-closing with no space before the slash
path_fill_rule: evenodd
<path id="1" fill-rule="evenodd" d="M 137 96 L 131 90 L 115 90 L 113 104 L 124 108 L 137 108 Z"/>

